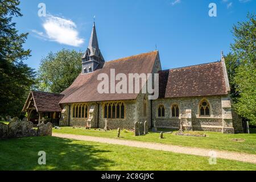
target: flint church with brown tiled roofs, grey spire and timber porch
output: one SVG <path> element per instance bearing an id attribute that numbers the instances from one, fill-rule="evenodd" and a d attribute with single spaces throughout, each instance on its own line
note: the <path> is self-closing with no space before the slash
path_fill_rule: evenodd
<path id="1" fill-rule="evenodd" d="M 82 70 L 60 94 L 31 91 L 23 111 L 34 123 L 57 122 L 60 126 L 134 129 L 135 122 L 148 128 L 222 133 L 243 132 L 242 120 L 232 110 L 225 59 L 213 63 L 162 70 L 158 51 L 105 61 L 93 24 L 89 46 L 81 58 Z M 110 70 L 122 73 L 159 74 L 159 97 L 143 93 L 99 93 L 98 75 Z M 148 80 L 147 80 L 148 81 Z M 154 84 L 154 81 L 153 81 Z M 110 89 L 110 88 L 109 88 Z"/>

